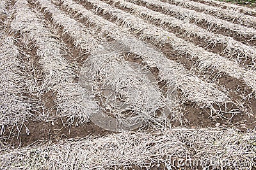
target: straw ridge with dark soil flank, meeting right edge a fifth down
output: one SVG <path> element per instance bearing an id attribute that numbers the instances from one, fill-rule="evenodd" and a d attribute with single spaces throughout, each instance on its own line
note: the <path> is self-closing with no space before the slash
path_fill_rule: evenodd
<path id="1" fill-rule="evenodd" d="M 132 3 L 138 3 L 148 8 L 153 7 L 154 9 L 160 9 L 163 13 L 170 16 L 179 18 L 184 22 L 190 22 L 192 24 L 197 24 L 204 29 L 211 32 L 221 32 L 226 36 L 232 36 L 236 38 L 237 41 L 244 41 L 245 43 L 250 43 L 255 45 L 256 30 L 249 27 L 244 27 L 243 25 L 234 24 L 226 20 L 221 20 L 211 15 L 204 13 L 188 10 L 180 6 L 175 6 L 169 3 L 163 3 L 158 0 L 127 0 Z"/>

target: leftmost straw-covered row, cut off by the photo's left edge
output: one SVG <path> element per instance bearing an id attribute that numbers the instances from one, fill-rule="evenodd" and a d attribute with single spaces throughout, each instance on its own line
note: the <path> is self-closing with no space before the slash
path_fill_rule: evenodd
<path id="1" fill-rule="evenodd" d="M 19 131 L 36 108 L 29 96 L 24 95 L 29 94 L 33 82 L 13 41 L 12 37 L 6 37 L 0 47 L 0 136 L 6 127 Z"/>

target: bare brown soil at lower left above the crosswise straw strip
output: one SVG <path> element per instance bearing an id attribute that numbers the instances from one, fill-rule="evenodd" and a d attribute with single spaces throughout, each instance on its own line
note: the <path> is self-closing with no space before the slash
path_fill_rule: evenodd
<path id="1" fill-rule="evenodd" d="M 65 120 L 63 120 L 65 122 Z M 51 141 L 56 143 L 63 139 L 70 138 L 83 138 L 89 135 L 93 136 L 106 136 L 113 132 L 101 129 L 92 122 L 83 125 L 63 125 L 61 119 L 54 120 L 51 122 L 25 122 L 29 129 L 29 135 L 26 135 L 26 128 L 23 126 L 20 133 L 24 135 L 12 135 L 8 138 L 10 131 L 6 131 L 3 135 L 3 141 L 15 146 L 28 146 L 36 143 L 46 143 Z"/>

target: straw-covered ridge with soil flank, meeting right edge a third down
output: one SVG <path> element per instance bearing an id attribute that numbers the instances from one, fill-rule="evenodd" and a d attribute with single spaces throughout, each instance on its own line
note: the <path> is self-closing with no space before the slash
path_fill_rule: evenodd
<path id="1" fill-rule="evenodd" d="M 152 24 L 157 24 L 163 27 L 166 31 L 176 33 L 176 36 L 180 36 L 181 34 L 181 38 L 186 38 L 199 46 L 202 46 L 202 41 L 204 41 L 205 45 L 202 47 L 207 46 L 207 50 L 211 51 L 213 49 L 213 52 L 221 53 L 221 55 L 225 55 L 225 57 L 228 58 L 235 57 L 235 59 L 237 59 L 238 62 L 241 62 L 241 64 L 247 61 L 246 65 L 253 65 L 253 67 L 255 67 L 254 60 L 256 50 L 252 46 L 244 45 L 243 43 L 228 36 L 206 31 L 195 24 L 189 24 L 189 22 L 184 22 L 175 17 L 164 15 L 163 13 L 150 10 L 143 6 L 138 6 L 136 4 L 120 0 L 113 0 L 113 2 L 114 4 L 118 3 L 117 6 L 128 9 L 137 17 L 143 17 L 149 22 L 152 22 Z M 195 37 L 197 38 L 196 41 Z M 218 50 L 217 48 L 220 48 L 220 45 L 222 45 L 221 49 Z"/>

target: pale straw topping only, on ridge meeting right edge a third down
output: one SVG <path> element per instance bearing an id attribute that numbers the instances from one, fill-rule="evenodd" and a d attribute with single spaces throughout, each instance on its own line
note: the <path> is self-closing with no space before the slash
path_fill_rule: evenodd
<path id="1" fill-rule="evenodd" d="M 120 6 L 127 9 L 131 9 L 132 12 L 138 17 L 147 17 L 151 22 L 158 22 L 160 25 L 168 24 L 168 26 L 181 29 L 185 36 L 198 36 L 200 39 L 204 39 L 209 45 L 223 44 L 225 49 L 224 52 L 227 52 L 226 56 L 236 55 L 237 61 L 244 59 L 252 59 L 252 65 L 255 65 L 256 57 L 256 48 L 253 46 L 244 45 L 243 43 L 234 40 L 231 37 L 223 36 L 222 34 L 215 34 L 201 27 L 198 27 L 195 24 L 189 24 L 189 22 L 183 22 L 174 17 L 169 17 L 162 13 L 149 10 L 143 6 L 138 6 L 136 4 L 129 3 L 124 0 L 112 0 L 114 3 L 120 4 Z M 180 0 L 178 0 L 180 1 Z M 244 61 L 243 61 L 244 62 Z"/>

